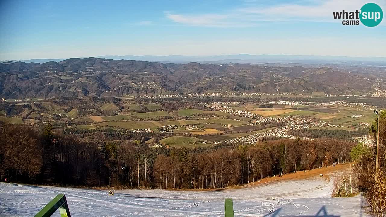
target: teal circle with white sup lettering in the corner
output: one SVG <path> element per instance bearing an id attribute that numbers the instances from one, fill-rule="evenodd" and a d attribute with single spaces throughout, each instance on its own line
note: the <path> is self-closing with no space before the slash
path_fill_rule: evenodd
<path id="1" fill-rule="evenodd" d="M 376 3 L 367 3 L 361 8 L 361 15 L 359 19 L 363 25 L 367 27 L 374 27 L 381 23 L 383 18 L 382 8 Z"/>

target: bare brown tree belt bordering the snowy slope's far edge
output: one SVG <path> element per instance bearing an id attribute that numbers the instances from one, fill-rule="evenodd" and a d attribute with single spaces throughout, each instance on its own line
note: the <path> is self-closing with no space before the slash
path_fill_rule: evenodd
<path id="1" fill-rule="evenodd" d="M 80 139 L 56 132 L 50 124 L 44 129 L 0 128 L 2 180 L 64 186 L 225 188 L 349 162 L 356 145 L 338 139 L 280 139 L 249 146 L 155 149 L 140 137 Z"/>

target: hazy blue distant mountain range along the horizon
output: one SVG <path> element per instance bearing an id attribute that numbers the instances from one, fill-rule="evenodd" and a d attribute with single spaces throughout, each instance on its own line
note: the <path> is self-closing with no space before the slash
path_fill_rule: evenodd
<path id="1" fill-rule="evenodd" d="M 208 63 L 208 64 L 223 64 L 223 63 L 303 63 L 303 64 L 345 64 L 345 65 L 367 65 L 367 66 L 386 66 L 386 58 L 384 57 L 349 57 L 349 56 L 304 56 L 304 55 L 251 55 L 251 54 L 231 54 L 217 56 L 96 56 L 103 59 L 125 59 L 125 60 L 141 60 L 160 63 Z M 46 63 L 49 61 L 59 62 L 64 59 L 28 59 L 18 60 L 24 63 Z M 15 60 L 12 60 L 16 62 Z"/>

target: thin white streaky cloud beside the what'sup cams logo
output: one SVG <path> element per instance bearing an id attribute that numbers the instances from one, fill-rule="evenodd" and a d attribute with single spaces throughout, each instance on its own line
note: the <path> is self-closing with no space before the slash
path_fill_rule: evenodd
<path id="1" fill-rule="evenodd" d="M 386 6 L 386 0 L 373 0 L 372 2 L 378 3 L 382 8 Z M 239 7 L 219 14 L 186 15 L 167 12 L 166 17 L 179 24 L 212 27 L 256 26 L 259 22 L 336 22 L 332 17 L 332 12 L 343 9 L 346 11 L 359 10 L 365 3 L 368 2 L 365 0 L 308 0 L 296 4 Z"/>

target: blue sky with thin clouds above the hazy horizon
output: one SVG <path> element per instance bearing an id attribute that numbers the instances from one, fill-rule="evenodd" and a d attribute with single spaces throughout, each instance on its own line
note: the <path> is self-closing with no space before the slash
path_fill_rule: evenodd
<path id="1" fill-rule="evenodd" d="M 386 8 L 386 0 L 371 1 Z M 386 18 L 344 26 L 363 0 L 0 0 L 0 60 L 102 55 L 386 57 Z M 384 9 L 385 10 L 385 9 Z"/>

